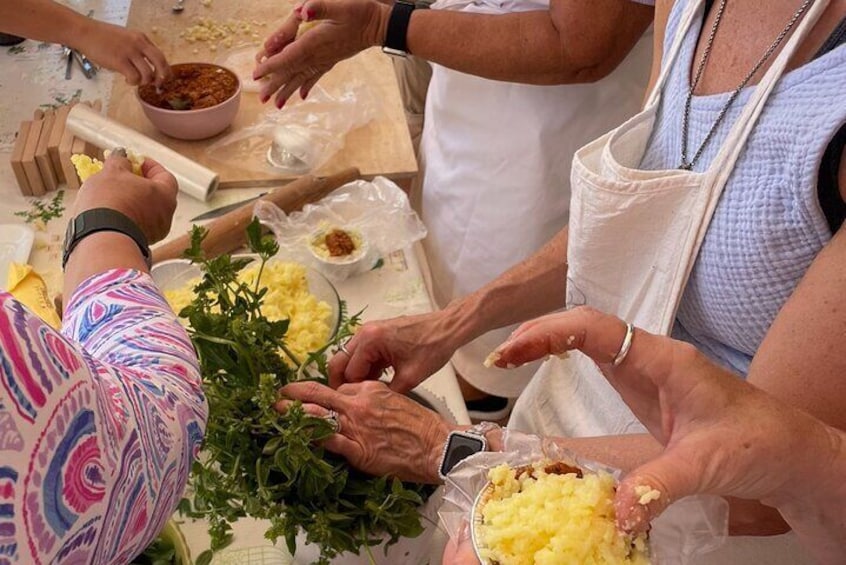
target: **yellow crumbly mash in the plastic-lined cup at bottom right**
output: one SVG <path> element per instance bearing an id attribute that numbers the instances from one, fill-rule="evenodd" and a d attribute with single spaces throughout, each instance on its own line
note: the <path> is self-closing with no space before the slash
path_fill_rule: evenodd
<path id="1" fill-rule="evenodd" d="M 480 556 L 500 565 L 648 564 L 645 535 L 632 538 L 614 516 L 614 478 L 607 473 L 534 477 L 500 465 L 490 470 L 490 498 L 477 525 Z"/>

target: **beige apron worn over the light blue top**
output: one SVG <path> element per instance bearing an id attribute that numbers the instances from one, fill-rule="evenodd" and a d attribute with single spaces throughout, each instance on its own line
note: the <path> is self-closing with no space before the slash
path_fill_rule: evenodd
<path id="1" fill-rule="evenodd" d="M 567 306 L 586 304 L 657 334 L 672 329 L 723 187 L 767 98 L 828 5 L 818 0 L 810 8 L 707 171 L 639 170 L 664 82 L 703 1 L 692 0 L 682 14 L 646 109 L 573 158 Z M 518 400 L 510 425 L 573 437 L 644 431 L 596 365 L 578 352 L 541 366 Z"/>

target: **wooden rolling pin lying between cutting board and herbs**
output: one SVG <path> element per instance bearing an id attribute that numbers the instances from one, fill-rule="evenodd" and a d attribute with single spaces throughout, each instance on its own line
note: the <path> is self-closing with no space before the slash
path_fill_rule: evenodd
<path id="1" fill-rule="evenodd" d="M 312 176 L 280 186 L 261 197 L 287 213 L 299 210 L 309 202 L 320 200 L 336 188 L 360 178 L 358 169 L 350 168 L 326 178 Z M 203 240 L 203 250 L 208 257 L 217 257 L 242 247 L 247 243 L 247 225 L 253 217 L 255 202 L 244 204 L 237 210 L 216 218 L 205 225 L 208 230 Z M 178 259 L 191 246 L 191 233 L 165 241 L 153 248 L 153 263 Z"/>

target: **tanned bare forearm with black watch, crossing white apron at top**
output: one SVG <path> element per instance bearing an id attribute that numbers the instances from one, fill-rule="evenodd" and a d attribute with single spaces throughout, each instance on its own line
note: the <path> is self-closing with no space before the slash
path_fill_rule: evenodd
<path id="1" fill-rule="evenodd" d="M 622 61 L 652 20 L 628 0 L 553 0 L 506 15 L 416 10 L 410 51 L 445 67 L 529 84 L 593 82 Z"/>

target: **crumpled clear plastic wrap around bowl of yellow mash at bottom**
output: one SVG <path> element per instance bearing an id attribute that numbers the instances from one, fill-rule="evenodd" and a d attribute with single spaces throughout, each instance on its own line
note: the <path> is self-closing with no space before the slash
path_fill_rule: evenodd
<path id="1" fill-rule="evenodd" d="M 488 482 L 488 470 L 497 465 L 505 463 L 518 467 L 550 459 L 589 472 L 602 470 L 617 480 L 621 477 L 618 469 L 579 458 L 549 439 L 505 430 L 504 443 L 504 451 L 472 455 L 458 463 L 447 477 L 444 503 L 438 515 L 451 538 L 458 535 L 464 522 L 470 523 L 476 496 Z M 651 561 L 653 564 L 684 565 L 696 556 L 717 549 L 727 536 L 728 503 L 717 496 L 689 496 L 673 503 L 652 521 L 649 532 Z"/>

